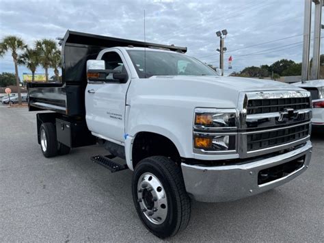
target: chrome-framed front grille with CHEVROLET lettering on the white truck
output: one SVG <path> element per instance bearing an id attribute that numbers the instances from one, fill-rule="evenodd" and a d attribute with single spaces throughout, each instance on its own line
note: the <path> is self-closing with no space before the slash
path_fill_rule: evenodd
<path id="1" fill-rule="evenodd" d="M 278 103 L 280 109 L 276 112 L 265 112 L 273 107 L 273 103 Z M 239 96 L 241 132 L 237 136 L 240 157 L 282 151 L 307 142 L 311 130 L 311 104 L 310 92 L 307 91 L 242 92 Z M 250 109 L 247 114 L 248 108 L 251 107 L 248 105 L 252 105 L 252 109 L 256 110 L 251 112 Z M 265 109 L 262 105 L 265 105 Z M 301 109 L 293 110 L 291 107 Z M 293 113 L 289 118 L 280 121 L 284 109 Z M 260 113 L 256 113 L 257 111 Z M 252 129 L 253 131 L 249 131 Z"/>

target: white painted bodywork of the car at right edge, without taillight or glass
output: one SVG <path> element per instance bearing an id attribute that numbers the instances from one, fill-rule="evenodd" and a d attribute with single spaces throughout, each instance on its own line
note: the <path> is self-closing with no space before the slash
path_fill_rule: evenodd
<path id="1" fill-rule="evenodd" d="M 316 88 L 321 89 L 324 87 L 324 79 L 317 79 L 317 80 L 309 80 L 306 83 L 295 83 L 294 86 L 298 86 L 300 88 Z M 316 101 L 324 101 L 324 97 L 319 97 L 320 99 L 313 99 L 312 102 Z M 320 125 L 324 127 L 324 108 L 314 108 L 312 110 L 312 124 L 313 125 Z"/>

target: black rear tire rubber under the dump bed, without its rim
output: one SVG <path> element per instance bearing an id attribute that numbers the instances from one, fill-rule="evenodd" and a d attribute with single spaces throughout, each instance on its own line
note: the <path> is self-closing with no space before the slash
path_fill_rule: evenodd
<path id="1" fill-rule="evenodd" d="M 42 146 L 42 131 L 45 133 L 46 146 Z M 40 149 L 45 157 L 57 155 L 56 129 L 53 123 L 42 123 L 40 125 Z"/>

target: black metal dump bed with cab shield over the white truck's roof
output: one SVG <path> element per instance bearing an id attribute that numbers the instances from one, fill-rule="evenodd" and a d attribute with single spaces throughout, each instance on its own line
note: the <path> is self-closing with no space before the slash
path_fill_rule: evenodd
<path id="1" fill-rule="evenodd" d="M 186 52 L 186 47 L 154 44 L 98 36 L 77 31 L 66 31 L 62 45 L 62 83 L 29 83 L 29 111 L 52 110 L 68 116 L 84 116 L 84 92 L 87 86 L 85 68 L 87 60 L 96 59 L 98 53 L 109 47 L 159 47 Z"/>

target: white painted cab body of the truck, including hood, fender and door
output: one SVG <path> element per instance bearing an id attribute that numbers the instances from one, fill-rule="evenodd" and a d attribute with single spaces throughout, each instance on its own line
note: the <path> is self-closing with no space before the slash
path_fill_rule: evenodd
<path id="1" fill-rule="evenodd" d="M 193 153 L 195 108 L 237 108 L 240 92 L 292 90 L 289 84 L 241 77 L 178 75 L 140 79 L 127 49 L 143 48 L 116 47 L 99 53 L 97 60 L 107 51 L 120 53 L 129 80 L 126 84 L 87 84 L 85 109 L 87 126 L 95 136 L 124 145 L 126 162 L 131 170 L 132 142 L 141 131 L 169 138 L 181 157 L 205 160 L 237 158 L 239 155 Z M 87 92 L 92 89 L 94 94 Z M 120 114 L 122 119 L 111 118 L 111 114 Z"/>

